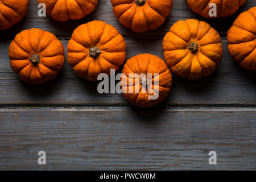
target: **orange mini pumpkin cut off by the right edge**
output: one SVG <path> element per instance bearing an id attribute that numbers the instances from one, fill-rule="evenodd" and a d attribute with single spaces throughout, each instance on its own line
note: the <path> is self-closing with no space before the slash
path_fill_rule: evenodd
<path id="1" fill-rule="evenodd" d="M 256 7 L 241 13 L 228 31 L 230 55 L 245 69 L 256 70 Z"/>

